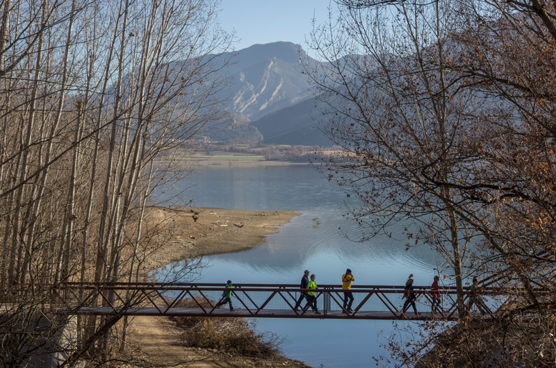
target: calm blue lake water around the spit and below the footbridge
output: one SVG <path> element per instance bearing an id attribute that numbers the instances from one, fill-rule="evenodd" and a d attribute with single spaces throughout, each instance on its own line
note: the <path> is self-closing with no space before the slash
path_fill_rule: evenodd
<path id="1" fill-rule="evenodd" d="M 436 253 L 424 247 L 405 251 L 402 229 L 392 237 L 352 242 L 357 225 L 342 217 L 346 196 L 309 166 L 200 167 L 181 187 L 189 187 L 195 206 L 245 210 L 296 210 L 300 217 L 266 237 L 265 244 L 241 253 L 212 256 L 198 281 L 206 283 L 299 283 L 304 269 L 320 284 L 341 283 L 352 269 L 359 285 L 403 285 L 414 274 L 416 285 L 429 285 Z M 357 300 L 356 300 L 357 303 Z M 370 367 L 384 353 L 379 341 L 391 321 L 259 319 L 259 331 L 286 337 L 289 358 L 312 367 Z M 381 333 L 381 331 L 384 331 Z"/>

